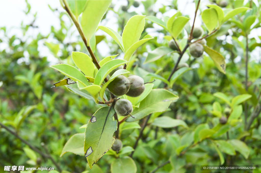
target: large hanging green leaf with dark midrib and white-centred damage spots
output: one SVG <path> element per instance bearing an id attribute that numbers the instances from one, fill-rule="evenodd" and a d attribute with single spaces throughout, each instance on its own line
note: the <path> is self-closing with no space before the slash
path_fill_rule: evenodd
<path id="1" fill-rule="evenodd" d="M 114 108 L 104 106 L 98 109 L 85 129 L 84 153 L 90 169 L 112 146 L 112 137 L 117 130 L 117 121 L 112 120 Z"/>

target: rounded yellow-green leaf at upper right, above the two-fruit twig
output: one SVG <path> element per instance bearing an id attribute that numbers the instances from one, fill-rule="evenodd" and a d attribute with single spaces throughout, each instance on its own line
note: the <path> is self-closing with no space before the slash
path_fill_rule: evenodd
<path id="1" fill-rule="evenodd" d="M 217 26 L 218 16 L 217 11 L 214 8 L 205 9 L 201 13 L 201 18 L 205 23 L 207 30 L 211 33 Z"/>

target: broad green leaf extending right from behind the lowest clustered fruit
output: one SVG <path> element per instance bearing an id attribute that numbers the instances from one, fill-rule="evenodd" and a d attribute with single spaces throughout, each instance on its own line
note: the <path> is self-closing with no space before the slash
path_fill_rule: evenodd
<path id="1" fill-rule="evenodd" d="M 172 92 L 165 89 L 153 89 L 150 94 L 140 102 L 139 108 L 135 108 L 132 116 L 133 118 L 128 118 L 127 122 L 138 121 L 145 116 L 153 112 L 163 112 L 166 110 L 171 101 L 177 100 L 179 97 L 173 94 Z"/>

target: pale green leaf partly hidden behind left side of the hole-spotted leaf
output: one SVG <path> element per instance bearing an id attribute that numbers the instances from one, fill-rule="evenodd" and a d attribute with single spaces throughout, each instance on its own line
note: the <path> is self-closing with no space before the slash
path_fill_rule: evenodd
<path id="1" fill-rule="evenodd" d="M 60 157 L 67 152 L 72 152 L 76 155 L 84 156 L 84 133 L 76 133 L 70 137 L 63 147 Z"/>

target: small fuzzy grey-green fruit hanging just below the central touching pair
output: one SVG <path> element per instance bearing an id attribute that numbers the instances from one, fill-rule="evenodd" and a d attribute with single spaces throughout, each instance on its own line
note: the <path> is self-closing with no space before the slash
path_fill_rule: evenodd
<path id="1" fill-rule="evenodd" d="M 120 98 L 116 101 L 114 109 L 118 115 L 127 116 L 132 112 L 132 103 L 127 99 Z"/>

